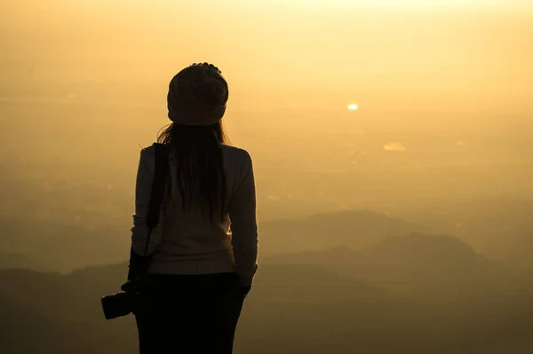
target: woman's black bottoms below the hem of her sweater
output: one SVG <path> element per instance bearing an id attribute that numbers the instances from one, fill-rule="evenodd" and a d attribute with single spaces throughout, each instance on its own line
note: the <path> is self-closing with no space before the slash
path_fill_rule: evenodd
<path id="1" fill-rule="evenodd" d="M 147 275 L 135 311 L 140 354 L 231 354 L 243 295 L 235 273 Z"/>

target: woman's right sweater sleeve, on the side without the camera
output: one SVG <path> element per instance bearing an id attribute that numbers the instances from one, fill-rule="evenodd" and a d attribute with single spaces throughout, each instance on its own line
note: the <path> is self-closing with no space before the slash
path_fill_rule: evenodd
<path id="1" fill-rule="evenodd" d="M 229 206 L 235 267 L 244 286 L 251 285 L 258 270 L 258 225 L 251 157 L 246 153 L 242 178 Z"/>

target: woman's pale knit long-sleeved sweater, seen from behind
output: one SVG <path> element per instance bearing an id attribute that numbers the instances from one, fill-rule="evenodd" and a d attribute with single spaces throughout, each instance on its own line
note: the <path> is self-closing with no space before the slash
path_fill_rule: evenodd
<path id="1" fill-rule="evenodd" d="M 222 145 L 222 154 L 229 212 L 222 222 L 211 224 L 200 211 L 186 213 L 182 209 L 179 188 L 173 182 L 178 177 L 171 153 L 171 190 L 165 193 L 160 222 L 150 236 L 147 254 L 153 256 L 149 273 L 236 271 L 243 285 L 251 285 L 258 269 L 258 226 L 251 157 L 243 149 L 226 145 Z M 150 146 L 140 152 L 131 228 L 131 247 L 139 255 L 144 254 L 147 243 L 146 218 L 154 169 L 155 149 Z"/>

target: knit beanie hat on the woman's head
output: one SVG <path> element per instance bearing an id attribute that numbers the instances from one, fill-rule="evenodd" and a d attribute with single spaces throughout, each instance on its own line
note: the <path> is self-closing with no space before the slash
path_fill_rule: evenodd
<path id="1" fill-rule="evenodd" d="M 227 82 L 218 67 L 193 64 L 175 75 L 169 84 L 169 119 L 184 125 L 212 125 L 226 112 Z"/>

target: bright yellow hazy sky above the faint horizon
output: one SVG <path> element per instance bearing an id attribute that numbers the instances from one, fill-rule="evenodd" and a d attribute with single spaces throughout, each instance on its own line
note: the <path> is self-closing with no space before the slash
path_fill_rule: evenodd
<path id="1" fill-rule="evenodd" d="M 352 102 L 406 110 L 533 105 L 529 1 L 4 0 L 0 6 L 3 92 L 32 83 L 117 80 L 153 83 L 163 92 L 180 67 L 208 60 L 227 76 L 238 110 Z"/>

